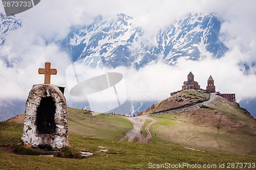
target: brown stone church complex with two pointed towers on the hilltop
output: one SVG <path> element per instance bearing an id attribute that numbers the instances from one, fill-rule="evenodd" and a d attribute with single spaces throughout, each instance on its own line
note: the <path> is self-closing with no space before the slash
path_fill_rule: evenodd
<path id="1" fill-rule="evenodd" d="M 183 86 L 182 86 L 182 90 L 186 90 L 186 89 L 195 89 L 195 90 L 200 90 L 200 91 L 204 91 L 204 92 L 216 92 L 216 88 L 214 85 L 214 79 L 210 76 L 207 80 L 207 86 L 206 86 L 206 90 L 200 88 L 200 85 L 198 84 L 198 82 L 194 81 L 194 75 L 193 73 L 190 71 L 189 74 L 187 75 L 187 81 L 184 81 Z M 230 102 L 234 102 L 236 101 L 236 96 L 235 94 L 227 94 L 227 93 L 220 93 L 217 92 L 220 96 L 223 96 L 223 98 L 226 98 L 227 100 L 229 100 Z M 172 95 L 172 93 L 171 93 Z"/>

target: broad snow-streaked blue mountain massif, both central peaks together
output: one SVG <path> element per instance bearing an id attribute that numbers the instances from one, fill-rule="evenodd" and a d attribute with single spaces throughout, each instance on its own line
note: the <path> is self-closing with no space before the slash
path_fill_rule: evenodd
<path id="1" fill-rule="evenodd" d="M 162 28 L 154 41 L 143 40 L 144 31 L 135 19 L 125 14 L 113 18 L 98 17 L 91 25 L 73 26 L 62 42 L 73 61 L 101 56 L 110 67 L 134 66 L 137 69 L 157 62 L 175 64 L 179 57 L 197 60 L 210 53 L 220 58 L 228 48 L 220 41 L 221 21 L 215 15 L 189 14 L 174 25 Z"/>

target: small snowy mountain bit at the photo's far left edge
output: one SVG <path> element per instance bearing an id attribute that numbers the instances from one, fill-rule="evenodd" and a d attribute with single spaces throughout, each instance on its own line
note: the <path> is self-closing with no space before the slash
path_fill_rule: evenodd
<path id="1" fill-rule="evenodd" d="M 15 17 L 6 17 L 0 13 L 0 45 L 5 41 L 5 36 L 8 32 L 22 27 L 22 20 Z"/>

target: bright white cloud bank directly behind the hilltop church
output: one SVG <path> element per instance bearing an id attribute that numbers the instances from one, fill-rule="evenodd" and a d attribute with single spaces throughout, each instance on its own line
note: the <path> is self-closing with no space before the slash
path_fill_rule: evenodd
<path id="1" fill-rule="evenodd" d="M 236 55 L 236 58 L 233 56 Z M 220 59 L 204 58 L 201 61 L 178 59 L 176 66 L 158 62 L 140 70 L 118 67 L 110 70 L 124 75 L 128 99 L 137 101 L 161 101 L 168 98 L 170 92 L 181 90 L 189 71 L 195 75 L 195 81 L 206 89 L 207 79 L 211 75 L 216 90 L 221 93 L 236 93 L 238 100 L 255 98 L 256 89 L 251 85 L 256 75 L 244 75 L 238 66 L 239 58 L 244 54 L 235 49 Z"/>

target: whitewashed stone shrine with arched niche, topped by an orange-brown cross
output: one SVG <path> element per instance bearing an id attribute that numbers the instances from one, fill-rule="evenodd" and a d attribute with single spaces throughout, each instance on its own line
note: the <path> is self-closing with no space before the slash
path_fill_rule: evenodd
<path id="1" fill-rule="evenodd" d="M 36 84 L 29 92 L 22 141 L 40 149 L 69 147 L 66 99 L 58 86 L 50 84 L 51 75 L 56 75 L 57 70 L 46 62 L 38 73 L 45 74 L 45 84 Z"/>

